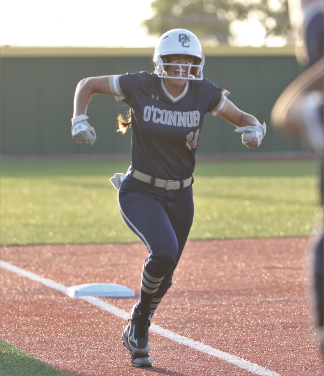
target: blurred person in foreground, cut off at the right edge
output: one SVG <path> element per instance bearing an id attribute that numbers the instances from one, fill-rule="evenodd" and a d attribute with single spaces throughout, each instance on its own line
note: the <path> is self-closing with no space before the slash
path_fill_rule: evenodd
<path id="1" fill-rule="evenodd" d="M 280 132 L 300 137 L 307 149 L 321 156 L 320 204 L 323 206 L 324 3 L 323 0 L 289 0 L 288 5 L 295 32 L 296 57 L 306 65 L 306 70 L 278 98 L 271 121 Z M 324 358 L 323 238 L 321 228 L 313 247 L 312 278 L 319 346 Z"/>

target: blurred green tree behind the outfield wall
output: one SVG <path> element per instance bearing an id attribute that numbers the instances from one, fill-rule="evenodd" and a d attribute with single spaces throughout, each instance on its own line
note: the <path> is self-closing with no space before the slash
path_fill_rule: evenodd
<path id="1" fill-rule="evenodd" d="M 254 18 L 264 28 L 264 44 L 269 36 L 280 36 L 282 44 L 292 39 L 287 0 L 154 0 L 151 8 L 143 26 L 152 36 L 183 28 L 205 44 L 235 45 L 234 24 Z"/>

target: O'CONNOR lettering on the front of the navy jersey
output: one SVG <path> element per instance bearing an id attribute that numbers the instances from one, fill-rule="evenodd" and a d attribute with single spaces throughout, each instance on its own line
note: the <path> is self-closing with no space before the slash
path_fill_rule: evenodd
<path id="1" fill-rule="evenodd" d="M 174 125 L 177 127 L 198 127 L 200 121 L 199 111 L 170 111 L 161 110 L 155 106 L 145 106 L 144 121 L 153 121 L 156 124 Z"/>

